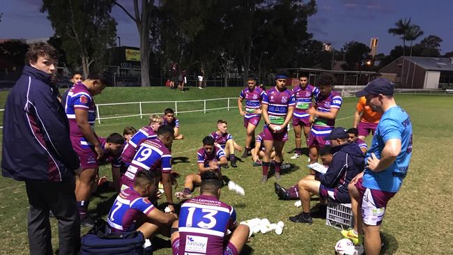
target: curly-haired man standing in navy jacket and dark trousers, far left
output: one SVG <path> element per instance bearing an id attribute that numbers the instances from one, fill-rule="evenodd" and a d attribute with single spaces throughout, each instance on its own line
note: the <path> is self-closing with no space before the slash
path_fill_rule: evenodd
<path id="1" fill-rule="evenodd" d="M 8 95 L 3 118 L 1 173 L 25 181 L 31 254 L 53 253 L 49 210 L 59 221 L 59 254 L 79 250 L 74 176 L 80 163 L 58 90 L 50 84 L 55 60 L 51 45 L 30 45 L 27 64 Z"/>

